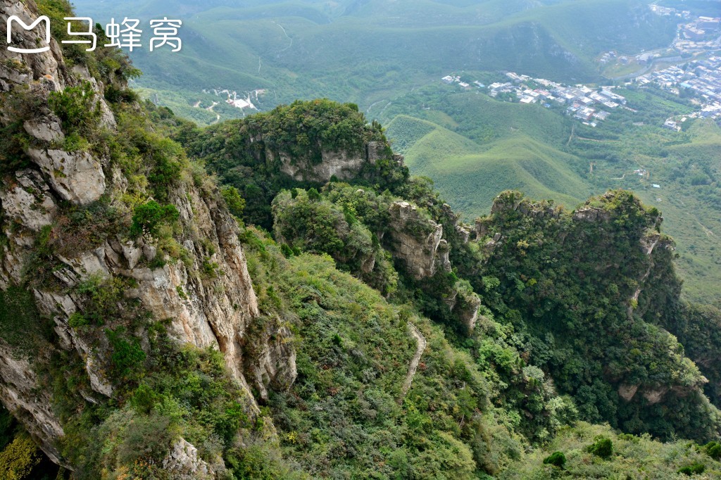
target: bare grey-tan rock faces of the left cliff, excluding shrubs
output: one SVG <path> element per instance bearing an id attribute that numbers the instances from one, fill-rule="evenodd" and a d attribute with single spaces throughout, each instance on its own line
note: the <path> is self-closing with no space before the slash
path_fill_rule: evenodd
<path id="1" fill-rule="evenodd" d="M 29 24 L 37 12 L 32 2 L 0 2 L 0 23 L 6 25 L 11 15 Z M 33 48 L 44 44 L 36 32 L 24 30 L 13 32 L 13 41 Z M 23 125 L 32 138 L 25 148 L 30 166 L 6 174 L 0 187 L 0 220 L 6 238 L 0 244 L 2 290 L 26 282 L 28 262 L 41 232 L 52 232 L 64 210 L 92 204 L 101 197 L 114 205 L 127 188 L 128 179 L 110 167 L 107 156 L 58 148 L 66 133 L 61 121 L 48 109 L 48 96 L 83 81 L 92 85 L 94 101 L 101 111 L 100 125 L 112 130 L 115 118 L 103 98 L 105 86 L 89 76 L 87 68 L 68 68 L 56 40 L 51 40 L 50 50 L 45 53 L 21 55 L 0 50 L 0 94 L 22 91 L 36 105 L 30 113 L 32 118 Z M 0 108 L 0 115 L 2 125 L 17 121 L 7 108 Z M 92 385 L 92 391 L 84 392 L 87 401 L 114 395 L 105 373 L 107 340 L 84 333 L 70 322 L 74 314 L 83 313 L 87 304 L 75 287 L 89 279 L 122 280 L 123 285 L 131 285 L 125 289 L 125 298 L 137 299 L 154 319 L 167 319 L 172 338 L 223 352 L 232 375 L 247 392 L 244 407 L 251 417 L 258 408 L 249 384 L 265 392 L 270 383 L 283 388 L 295 380 L 293 347 L 284 342 L 291 335 L 287 329 L 265 330 L 265 338 L 261 337 L 254 349 L 255 357 L 244 355 L 244 336 L 260 312 L 236 221 L 218 200 L 217 192 L 207 190 L 183 181 L 169 192 L 169 203 L 180 213 L 182 233 L 176 234 L 174 240 L 187 252 L 185 261 L 153 267 L 159 255 L 157 239 L 149 235 L 139 239 L 111 236 L 87 251 L 53 254 L 53 284 L 32 285 L 37 308 L 55 325 L 53 340 L 45 345 L 45 356 L 54 350 L 77 352 Z M 200 273 L 204 265 L 212 265 L 212 275 Z M 0 342 L 0 399 L 45 453 L 62 463 L 56 442 L 63 436 L 63 427 L 53 411 L 50 394 L 38 384 L 33 362 L 6 342 Z M 192 445 L 179 445 L 169 453 L 168 468 L 204 468 L 206 474 L 213 473 L 212 469 L 201 468 Z"/>

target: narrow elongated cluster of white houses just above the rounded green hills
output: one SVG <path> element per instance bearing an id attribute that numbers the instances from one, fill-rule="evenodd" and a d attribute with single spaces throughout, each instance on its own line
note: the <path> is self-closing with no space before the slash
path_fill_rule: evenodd
<path id="1" fill-rule="evenodd" d="M 473 84 L 477 88 L 487 89 L 491 97 L 500 94 L 511 94 L 520 103 L 541 103 L 544 107 L 551 107 L 552 102 L 566 106 L 569 115 L 578 118 L 586 125 L 595 127 L 598 120 L 606 120 L 611 115 L 606 109 L 614 109 L 619 105 L 626 105 L 626 99 L 619 94 L 611 92 L 611 87 L 590 89 L 585 85 L 563 85 L 547 79 L 535 79 L 528 75 L 519 75 L 515 72 L 505 74 L 509 81 L 497 81 L 485 86 L 479 81 Z M 448 75 L 442 79 L 446 84 L 458 84 L 461 88 L 472 89 L 472 84 L 461 81 L 460 77 Z"/>

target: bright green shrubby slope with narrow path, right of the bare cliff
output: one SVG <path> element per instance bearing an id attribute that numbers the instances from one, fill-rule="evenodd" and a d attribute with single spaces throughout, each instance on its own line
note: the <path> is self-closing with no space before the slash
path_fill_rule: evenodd
<path id="1" fill-rule="evenodd" d="M 386 302 L 328 256 L 286 260 L 257 231 L 249 229 L 244 239 L 261 309 L 280 309 L 298 342 L 298 378 L 268 404 L 288 461 L 313 478 L 441 478 L 442 471 L 470 480 L 477 478 L 471 445 L 478 440 L 461 432 L 464 421 L 497 434 L 487 441 L 500 458 L 502 442 L 522 440 L 503 427 L 513 413 L 487 404 L 491 391 L 481 366 L 452 347 L 440 326 Z M 399 402 L 417 347 L 407 320 L 428 346 Z M 466 383 L 454 373 L 461 370 L 468 372 Z"/>

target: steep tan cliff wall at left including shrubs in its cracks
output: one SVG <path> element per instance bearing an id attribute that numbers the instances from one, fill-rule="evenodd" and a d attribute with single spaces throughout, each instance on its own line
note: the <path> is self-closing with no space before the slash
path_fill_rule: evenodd
<path id="1" fill-rule="evenodd" d="M 29 24 L 38 12 L 31 1 L 2 1 L 0 23 L 6 25 L 11 15 Z M 26 47 L 44 45 L 37 32 L 25 30 L 14 31 L 13 41 Z M 133 207 L 153 199 L 153 185 L 143 176 L 142 165 L 140 173 L 129 178 L 105 143 L 68 147 L 71 133 L 50 108 L 53 94 L 68 89 L 84 89 L 83 101 L 97 109 L 92 128 L 101 132 L 101 138 L 117 134 L 115 116 L 104 98 L 105 85 L 81 64 L 69 68 L 54 38 L 45 53 L 0 50 L 0 123 L 5 132 L 18 123 L 24 130 L 16 135 L 22 136 L 18 142 L 22 151 L 13 158 L 6 154 L 2 169 L 0 289 L 30 290 L 40 315 L 52 320 L 54 330 L 41 345 L 43 353 L 34 358 L 0 340 L 0 399 L 53 461 L 66 463 L 58 448 L 63 419 L 37 370 L 47 373 L 43 365 L 53 355 L 77 355 L 92 387 L 82 392 L 86 401 L 94 404 L 103 397 L 122 401 L 116 398 L 118 377 L 112 375 L 117 360 L 109 346 L 112 338 L 104 328 L 112 332 L 135 328 L 133 337 L 149 353 L 146 325 L 122 318 L 128 315 L 124 307 L 133 304 L 136 314 L 165 321 L 167 334 L 176 342 L 220 350 L 232 378 L 245 392 L 246 414 L 257 417 L 260 411 L 252 387 L 265 394 L 270 383 L 278 388 L 293 383 L 295 354 L 292 344 L 284 342 L 291 335 L 288 329 L 265 329 L 254 348 L 255 357 L 244 356 L 244 336 L 260 311 L 235 219 L 204 174 L 191 176 L 185 166 L 167 189 L 165 203 L 177 213 L 171 231 L 128 233 Z M 107 225 L 92 224 L 93 219 L 86 222 L 86 236 L 72 228 L 78 212 L 92 216 L 102 209 L 112 212 L 105 220 L 125 221 L 125 228 L 104 230 Z M 48 275 L 40 278 L 38 268 Z M 94 295 L 111 290 L 117 294 L 105 308 L 106 314 L 111 313 L 90 321 L 97 306 Z M 92 328 L 93 322 L 105 327 Z M 181 450 L 193 450 L 192 445 L 182 445 L 175 445 L 170 453 L 168 468 L 182 463 Z"/>

